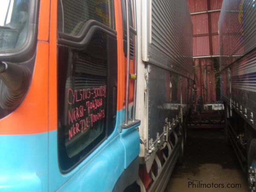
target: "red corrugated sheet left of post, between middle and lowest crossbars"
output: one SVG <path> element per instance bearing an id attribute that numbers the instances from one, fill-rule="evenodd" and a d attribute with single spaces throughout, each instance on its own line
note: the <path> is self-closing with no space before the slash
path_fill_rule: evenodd
<path id="1" fill-rule="evenodd" d="M 193 37 L 193 55 L 210 55 L 209 35 Z"/>

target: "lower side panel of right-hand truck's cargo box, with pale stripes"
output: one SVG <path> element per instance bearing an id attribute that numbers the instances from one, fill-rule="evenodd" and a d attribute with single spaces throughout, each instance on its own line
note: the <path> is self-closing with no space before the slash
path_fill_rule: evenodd
<path id="1" fill-rule="evenodd" d="M 231 94 L 228 71 L 230 70 Z M 221 71 L 221 95 L 245 120 L 256 122 L 256 49 Z M 253 114 L 253 117 L 251 117 Z M 256 127 L 255 127 L 256 128 Z"/>

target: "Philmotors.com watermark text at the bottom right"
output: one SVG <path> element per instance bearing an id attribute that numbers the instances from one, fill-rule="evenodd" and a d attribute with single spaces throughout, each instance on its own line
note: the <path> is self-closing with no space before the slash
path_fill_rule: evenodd
<path id="1" fill-rule="evenodd" d="M 241 188 L 239 183 L 203 183 L 201 181 L 189 181 L 189 188 Z"/>

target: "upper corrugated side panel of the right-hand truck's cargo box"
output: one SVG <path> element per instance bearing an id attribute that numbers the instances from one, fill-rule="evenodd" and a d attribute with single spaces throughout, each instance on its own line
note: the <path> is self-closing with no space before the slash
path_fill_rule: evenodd
<path id="1" fill-rule="evenodd" d="M 256 48 L 256 3 L 224 0 L 219 18 L 221 70 Z"/>

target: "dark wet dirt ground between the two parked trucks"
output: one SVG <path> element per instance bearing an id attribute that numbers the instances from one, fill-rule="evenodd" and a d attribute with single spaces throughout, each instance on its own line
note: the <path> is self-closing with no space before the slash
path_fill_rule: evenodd
<path id="1" fill-rule="evenodd" d="M 234 187 L 234 188 L 229 188 Z M 190 129 L 183 165 L 165 192 L 249 192 L 244 173 L 222 129 Z"/>

